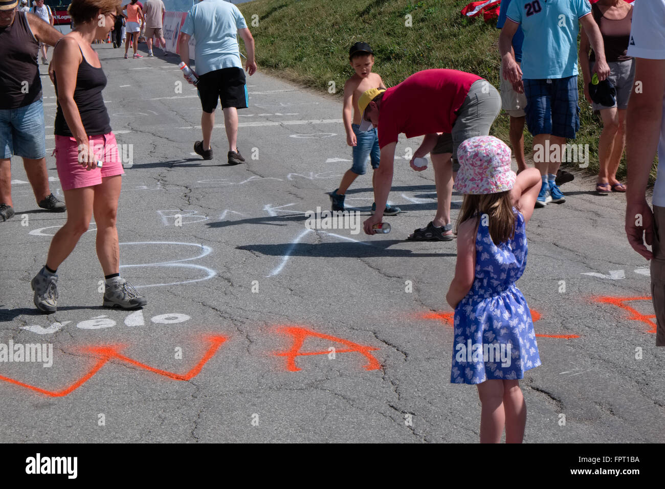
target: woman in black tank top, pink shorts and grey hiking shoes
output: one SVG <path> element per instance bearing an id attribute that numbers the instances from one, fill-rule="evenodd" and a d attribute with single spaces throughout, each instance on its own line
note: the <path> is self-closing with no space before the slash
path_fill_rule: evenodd
<path id="1" fill-rule="evenodd" d="M 116 214 L 124 171 L 102 98 L 106 75 L 91 46 L 113 28 L 120 0 L 72 0 L 69 11 L 76 28 L 57 43 L 52 63 L 58 96 L 56 165 L 68 214 L 65 226 L 53 236 L 46 264 L 31 282 L 35 305 L 47 313 L 57 310 L 57 269 L 94 214 L 97 257 L 106 279 L 103 305 L 138 309 L 146 299 L 119 273 Z M 102 17 L 104 22 L 98 20 Z"/>

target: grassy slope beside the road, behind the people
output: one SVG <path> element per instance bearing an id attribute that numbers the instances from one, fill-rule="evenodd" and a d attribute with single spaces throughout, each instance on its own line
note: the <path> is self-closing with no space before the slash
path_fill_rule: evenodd
<path id="1" fill-rule="evenodd" d="M 469 0 L 255 0 L 238 7 L 255 37 L 259 69 L 267 68 L 323 93 L 329 93 L 334 82 L 334 95 L 341 97 L 344 81 L 353 75 L 348 48 L 357 41 L 372 45 L 374 71 L 386 86 L 394 86 L 416 71 L 451 68 L 475 73 L 498 87 L 499 29 L 494 21 L 460 15 L 467 3 Z M 602 122 L 583 97 L 580 106 L 581 130 L 571 142 L 589 144 L 587 171 L 597 173 Z M 491 134 L 508 142 L 505 113 L 499 115 Z M 531 148 L 528 132 L 525 148 Z M 618 178 L 625 176 L 625 168 L 624 157 Z M 654 169 L 652 178 L 655 175 Z"/>

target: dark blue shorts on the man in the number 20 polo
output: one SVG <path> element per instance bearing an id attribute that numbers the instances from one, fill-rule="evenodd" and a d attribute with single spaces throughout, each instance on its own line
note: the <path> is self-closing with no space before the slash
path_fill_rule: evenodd
<path id="1" fill-rule="evenodd" d="M 580 129 L 577 75 L 523 81 L 529 132 L 574 139 Z"/>

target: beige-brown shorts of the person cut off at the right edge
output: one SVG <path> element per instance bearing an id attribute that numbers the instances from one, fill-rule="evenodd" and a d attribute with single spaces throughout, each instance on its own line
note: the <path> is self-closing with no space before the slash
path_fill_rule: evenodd
<path id="1" fill-rule="evenodd" d="M 652 251 L 651 301 L 656 311 L 656 346 L 665 347 L 665 207 L 654 206 Z"/>

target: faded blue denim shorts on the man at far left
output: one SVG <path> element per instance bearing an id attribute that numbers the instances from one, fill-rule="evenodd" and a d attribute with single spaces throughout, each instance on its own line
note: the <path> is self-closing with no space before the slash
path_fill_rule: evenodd
<path id="1" fill-rule="evenodd" d="M 46 156 L 44 107 L 41 98 L 25 107 L 0 109 L 0 159 Z"/>

